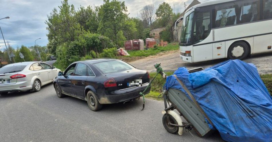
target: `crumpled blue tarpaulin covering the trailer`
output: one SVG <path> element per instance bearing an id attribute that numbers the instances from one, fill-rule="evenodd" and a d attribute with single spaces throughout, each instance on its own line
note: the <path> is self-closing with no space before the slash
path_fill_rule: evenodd
<path id="1" fill-rule="evenodd" d="M 228 60 L 205 70 L 174 72 L 226 141 L 272 141 L 272 98 L 253 64 Z M 174 76 L 165 89 L 188 94 Z M 189 120 L 190 121 L 190 120 Z M 207 121 L 208 123 L 208 121 Z"/>

